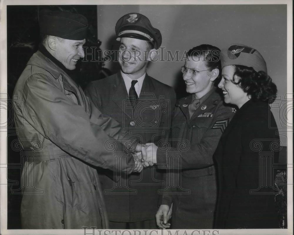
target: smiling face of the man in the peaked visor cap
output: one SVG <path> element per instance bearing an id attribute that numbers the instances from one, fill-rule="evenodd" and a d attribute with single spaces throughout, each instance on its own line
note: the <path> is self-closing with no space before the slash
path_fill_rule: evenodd
<path id="1" fill-rule="evenodd" d="M 121 70 L 131 79 L 136 80 L 146 72 L 148 54 L 146 41 L 129 37 L 121 38 L 118 62 Z"/>

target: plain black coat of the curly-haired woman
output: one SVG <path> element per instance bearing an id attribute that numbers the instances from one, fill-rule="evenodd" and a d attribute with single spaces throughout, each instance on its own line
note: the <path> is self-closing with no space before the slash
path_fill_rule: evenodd
<path id="1" fill-rule="evenodd" d="M 273 175 L 270 180 L 273 168 L 268 165 L 266 176 L 266 168 L 259 168 L 262 155 L 271 156 L 262 166 L 278 162 L 280 140 L 276 132 L 269 105 L 252 100 L 236 112 L 225 129 L 214 154 L 219 185 L 216 229 L 278 228 Z M 272 187 L 266 187 L 270 184 Z"/>

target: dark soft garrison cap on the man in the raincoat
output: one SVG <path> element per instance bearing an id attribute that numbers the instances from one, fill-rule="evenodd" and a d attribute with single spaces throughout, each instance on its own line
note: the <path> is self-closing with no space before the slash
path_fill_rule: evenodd
<path id="1" fill-rule="evenodd" d="M 87 35 L 88 20 L 80 14 L 44 9 L 39 14 L 39 26 L 42 34 L 83 40 Z"/>

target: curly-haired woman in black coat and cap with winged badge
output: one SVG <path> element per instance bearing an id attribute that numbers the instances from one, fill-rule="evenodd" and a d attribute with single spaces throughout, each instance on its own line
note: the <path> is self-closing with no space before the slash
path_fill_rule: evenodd
<path id="1" fill-rule="evenodd" d="M 220 54 L 225 103 L 238 110 L 214 154 L 218 172 L 216 229 L 279 228 L 275 208 L 274 169 L 280 139 L 269 101 L 276 85 L 262 55 L 233 44 Z"/>

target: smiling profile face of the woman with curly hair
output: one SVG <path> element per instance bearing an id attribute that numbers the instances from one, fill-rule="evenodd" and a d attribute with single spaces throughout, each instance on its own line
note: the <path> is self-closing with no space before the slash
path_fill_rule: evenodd
<path id="1" fill-rule="evenodd" d="M 223 90 L 225 103 L 237 105 L 238 108 L 242 107 L 250 98 L 248 94 L 238 85 L 233 83 L 233 76 L 235 74 L 235 66 L 228 65 L 222 69 L 222 79 L 218 84 L 218 87 Z M 238 78 L 235 77 L 235 82 Z"/>

